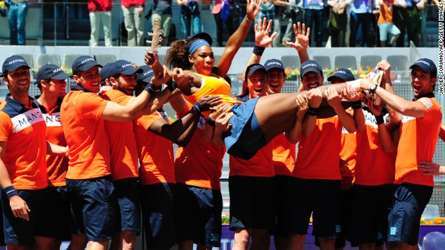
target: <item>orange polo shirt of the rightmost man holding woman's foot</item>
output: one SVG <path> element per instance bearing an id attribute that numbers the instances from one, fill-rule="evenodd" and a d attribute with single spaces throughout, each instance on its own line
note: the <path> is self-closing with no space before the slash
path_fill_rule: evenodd
<path id="1" fill-rule="evenodd" d="M 436 149 L 442 108 L 434 97 L 422 97 L 416 101 L 423 106 L 422 118 L 404 116 L 396 160 L 396 183 L 434 185 L 433 176 L 424 176 L 418 170 L 420 161 L 432 162 Z"/>

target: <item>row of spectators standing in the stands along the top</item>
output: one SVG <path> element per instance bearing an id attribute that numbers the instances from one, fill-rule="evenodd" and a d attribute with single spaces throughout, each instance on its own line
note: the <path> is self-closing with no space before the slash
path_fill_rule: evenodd
<path id="1" fill-rule="evenodd" d="M 273 31 L 278 34 L 270 47 L 287 46 L 286 42 L 292 40 L 292 25 L 298 22 L 305 22 L 312 29 L 309 38 L 312 47 L 405 47 L 409 45 L 405 37 L 416 47 L 427 47 L 427 20 L 437 19 L 439 1 L 443 0 L 263 0 L 255 22 L 263 17 L 273 20 Z M 172 31 L 172 15 L 180 17 L 181 38 L 200 33 L 200 0 L 177 0 L 176 3 L 180 6 L 179 13 L 172 12 L 172 0 L 122 0 L 120 7 L 127 31 L 127 46 L 146 45 L 145 19 L 151 19 L 152 27 L 154 20 L 159 19 L 164 38 L 168 38 Z M 24 45 L 27 0 L 6 0 L 5 4 L 10 44 Z M 91 46 L 98 45 L 101 22 L 104 45 L 113 45 L 112 8 L 112 0 L 88 0 Z M 232 35 L 240 23 L 240 1 L 216 0 L 211 4 L 211 13 L 216 23 L 217 45 L 223 47 L 223 24 Z M 282 34 L 284 25 L 286 31 Z M 163 39 L 161 45 L 167 45 L 168 41 Z"/>

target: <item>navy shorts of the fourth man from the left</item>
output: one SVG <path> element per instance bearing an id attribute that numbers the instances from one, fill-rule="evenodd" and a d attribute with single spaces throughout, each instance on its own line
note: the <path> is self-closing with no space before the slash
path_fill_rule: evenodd
<path id="1" fill-rule="evenodd" d="M 139 178 L 113 181 L 116 199 L 116 231 L 140 232 Z"/>

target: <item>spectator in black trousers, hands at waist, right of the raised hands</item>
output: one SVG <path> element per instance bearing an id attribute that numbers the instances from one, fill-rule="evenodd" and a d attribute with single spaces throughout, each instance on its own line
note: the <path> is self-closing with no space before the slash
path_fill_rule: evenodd
<path id="1" fill-rule="evenodd" d="M 329 0 L 331 6 L 327 27 L 331 36 L 331 47 L 346 47 L 346 27 L 350 0 Z"/>

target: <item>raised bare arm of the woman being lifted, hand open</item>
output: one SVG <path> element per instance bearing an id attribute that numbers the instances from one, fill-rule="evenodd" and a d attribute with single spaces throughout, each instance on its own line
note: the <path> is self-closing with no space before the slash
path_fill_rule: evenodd
<path id="1" fill-rule="evenodd" d="M 261 0 L 247 0 L 247 15 L 244 17 L 243 22 L 241 22 L 235 33 L 233 33 L 227 41 L 223 55 L 216 67 L 213 68 L 214 74 L 224 77 L 227 72 L 229 72 L 229 68 L 232 65 L 232 60 L 234 59 L 236 52 L 238 52 L 238 49 L 243 45 L 243 42 L 249 33 L 250 26 L 258 15 L 259 6 L 261 6 Z"/>

